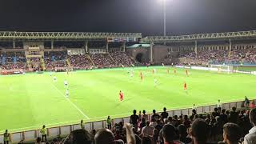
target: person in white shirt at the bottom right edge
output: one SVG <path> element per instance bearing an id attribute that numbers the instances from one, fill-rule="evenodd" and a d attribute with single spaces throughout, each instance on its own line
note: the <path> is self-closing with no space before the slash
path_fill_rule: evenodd
<path id="1" fill-rule="evenodd" d="M 253 128 L 249 130 L 249 134 L 246 134 L 244 138 L 244 144 L 255 144 L 256 143 L 256 108 L 250 110 L 249 114 L 250 123 L 254 125 Z"/>

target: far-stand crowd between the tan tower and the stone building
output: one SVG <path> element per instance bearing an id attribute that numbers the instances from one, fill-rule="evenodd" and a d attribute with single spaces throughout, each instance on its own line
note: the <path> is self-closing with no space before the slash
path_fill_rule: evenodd
<path id="1" fill-rule="evenodd" d="M 66 66 L 66 58 L 68 58 L 70 66 L 76 70 L 87 69 L 93 66 L 93 64 L 98 68 L 103 68 L 130 66 L 133 63 L 131 58 L 123 52 L 112 52 L 110 54 L 75 54 L 70 56 L 67 56 L 63 52 L 48 52 L 44 56 L 46 68 L 51 70 L 54 67 Z"/>

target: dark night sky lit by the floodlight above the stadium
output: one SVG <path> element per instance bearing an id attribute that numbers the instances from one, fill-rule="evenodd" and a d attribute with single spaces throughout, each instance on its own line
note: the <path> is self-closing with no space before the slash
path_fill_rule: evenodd
<path id="1" fill-rule="evenodd" d="M 162 0 L 1 0 L 0 30 L 162 35 Z M 255 0 L 166 0 L 167 35 L 256 30 Z"/>

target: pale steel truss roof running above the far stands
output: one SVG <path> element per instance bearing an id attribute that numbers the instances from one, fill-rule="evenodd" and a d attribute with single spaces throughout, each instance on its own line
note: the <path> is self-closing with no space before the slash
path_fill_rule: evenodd
<path id="1" fill-rule="evenodd" d="M 87 41 L 107 40 L 108 42 L 134 42 L 142 38 L 142 33 L 92 33 L 92 32 L 16 32 L 0 31 L 1 41 L 26 40 L 26 41 Z M 252 39 L 256 38 L 256 30 L 211 33 L 211 34 L 190 34 L 179 36 L 147 36 L 141 39 L 141 43 L 150 42 L 193 42 L 207 40 L 229 40 L 229 39 Z M 135 45 L 137 46 L 137 45 Z M 143 46 L 147 47 L 147 46 Z M 131 47 L 132 48 L 132 47 Z"/>

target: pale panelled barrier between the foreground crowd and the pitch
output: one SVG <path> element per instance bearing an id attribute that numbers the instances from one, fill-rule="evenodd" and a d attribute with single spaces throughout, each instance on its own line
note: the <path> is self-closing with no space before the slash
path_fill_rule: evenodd
<path id="1" fill-rule="evenodd" d="M 243 101 L 239 102 L 228 102 L 223 103 L 222 108 L 223 109 L 230 109 L 232 107 L 241 108 Z M 202 113 L 208 113 L 211 111 L 214 111 L 214 108 L 216 105 L 209 105 L 209 106 L 198 106 L 197 112 L 198 114 Z M 186 108 L 186 109 L 180 109 L 180 110 L 170 110 L 168 111 L 169 116 L 174 115 L 190 115 L 192 114 L 192 108 Z M 151 118 L 152 114 L 148 114 L 149 118 Z M 124 117 L 124 118 L 114 118 L 113 124 L 118 122 L 130 122 L 130 117 Z M 57 126 L 57 127 L 50 127 L 47 129 L 47 136 L 48 137 L 57 137 L 61 134 L 70 134 L 73 130 L 80 129 L 80 124 L 73 124 L 68 126 Z M 85 125 L 86 130 L 93 130 L 93 129 L 102 129 L 106 128 L 106 121 L 97 121 L 97 122 L 87 122 Z M 40 136 L 40 130 L 28 130 L 28 131 L 22 131 L 22 132 L 15 132 L 11 134 L 10 141 L 11 142 L 20 142 L 22 140 L 28 141 L 28 140 L 34 140 L 38 136 Z M 0 135 L 0 142 L 3 142 L 3 135 Z"/>

